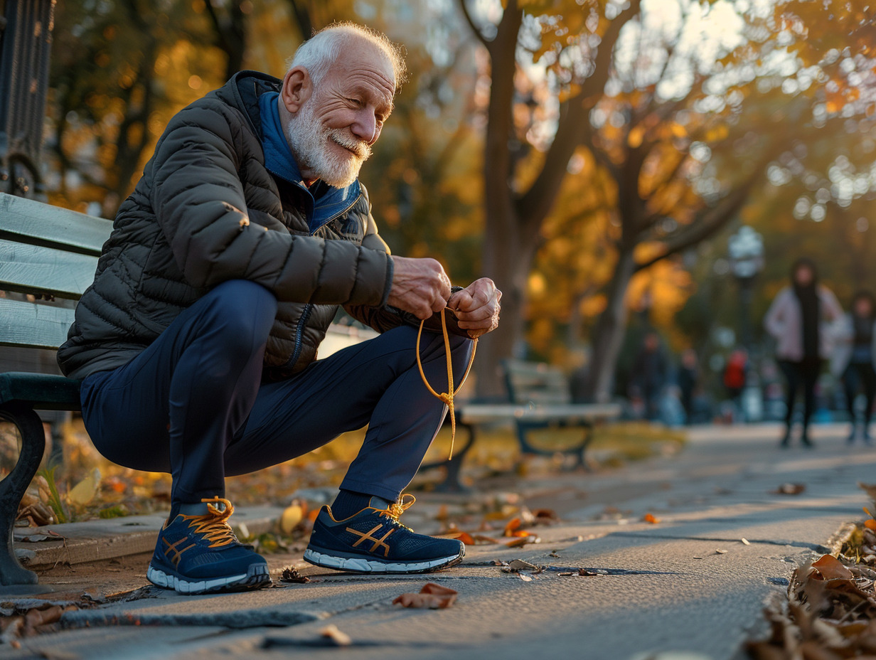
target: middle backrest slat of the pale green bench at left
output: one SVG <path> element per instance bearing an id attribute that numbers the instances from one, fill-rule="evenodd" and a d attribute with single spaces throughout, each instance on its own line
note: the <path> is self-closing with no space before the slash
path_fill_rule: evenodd
<path id="1" fill-rule="evenodd" d="M 79 300 L 95 279 L 97 258 L 0 238 L 0 289 Z"/>

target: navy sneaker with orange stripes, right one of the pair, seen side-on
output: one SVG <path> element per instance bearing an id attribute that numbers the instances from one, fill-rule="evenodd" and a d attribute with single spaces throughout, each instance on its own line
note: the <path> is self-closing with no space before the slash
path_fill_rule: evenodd
<path id="1" fill-rule="evenodd" d="M 399 515 L 413 502 L 413 495 L 391 504 L 372 497 L 367 507 L 340 521 L 331 507 L 322 507 L 304 559 L 353 573 L 427 573 L 463 561 L 462 542 L 414 534 L 399 522 Z"/>

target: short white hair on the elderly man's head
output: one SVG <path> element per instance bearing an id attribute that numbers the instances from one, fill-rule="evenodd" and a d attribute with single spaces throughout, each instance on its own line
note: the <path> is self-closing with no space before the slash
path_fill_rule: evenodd
<path id="1" fill-rule="evenodd" d="M 399 89 L 401 83 L 405 82 L 406 72 L 405 60 L 399 46 L 393 44 L 385 34 L 349 21 L 333 23 L 307 39 L 287 62 L 287 70 L 293 67 L 306 68 L 315 87 L 329 73 L 329 68 L 341 54 L 343 46 L 354 38 L 364 39 L 384 53 L 386 60 L 392 64 L 395 88 Z"/>

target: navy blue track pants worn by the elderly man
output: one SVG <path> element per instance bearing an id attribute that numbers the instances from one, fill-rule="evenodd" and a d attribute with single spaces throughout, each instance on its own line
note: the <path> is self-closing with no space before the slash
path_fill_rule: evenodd
<path id="1" fill-rule="evenodd" d="M 225 475 L 282 463 L 367 424 L 341 487 L 396 500 L 447 411 L 420 380 L 417 330 L 389 330 L 263 384 L 276 313 L 265 287 L 223 282 L 127 365 L 89 375 L 82 417 L 97 450 L 118 465 L 170 472 L 173 503 L 189 503 L 222 496 Z M 450 345 L 458 385 L 472 342 Z M 446 387 L 440 335 L 423 332 L 420 358 L 433 387 Z"/>

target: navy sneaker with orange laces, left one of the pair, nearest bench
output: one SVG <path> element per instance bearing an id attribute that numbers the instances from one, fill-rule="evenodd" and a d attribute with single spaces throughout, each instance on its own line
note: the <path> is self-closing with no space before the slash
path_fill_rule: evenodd
<path id="1" fill-rule="evenodd" d="M 146 571 L 153 585 L 179 593 L 258 589 L 271 584 L 265 557 L 237 541 L 229 500 L 214 497 L 204 515 L 179 514 L 165 522 Z M 222 505 L 222 508 L 216 506 Z"/>

